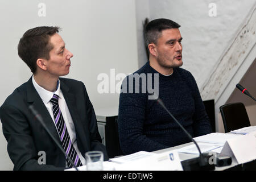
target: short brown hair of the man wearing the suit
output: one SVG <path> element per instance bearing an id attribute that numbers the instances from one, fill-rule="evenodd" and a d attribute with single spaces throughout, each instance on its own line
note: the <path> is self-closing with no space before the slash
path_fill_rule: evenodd
<path id="1" fill-rule="evenodd" d="M 53 49 L 49 38 L 59 32 L 59 27 L 35 27 L 27 30 L 18 44 L 18 55 L 28 65 L 32 73 L 36 72 L 36 60 L 49 59 Z"/>

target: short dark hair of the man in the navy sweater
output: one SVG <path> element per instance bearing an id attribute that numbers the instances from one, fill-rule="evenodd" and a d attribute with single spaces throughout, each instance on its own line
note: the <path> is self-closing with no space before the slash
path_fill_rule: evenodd
<path id="1" fill-rule="evenodd" d="M 177 24 L 176 22 L 170 19 L 165 19 L 165 18 L 154 19 L 151 22 L 149 22 L 144 32 L 144 41 L 147 49 L 148 49 L 148 44 L 150 43 L 157 44 L 157 41 L 161 36 L 163 30 L 171 29 L 171 28 L 179 28 L 179 27 L 180 25 Z"/>

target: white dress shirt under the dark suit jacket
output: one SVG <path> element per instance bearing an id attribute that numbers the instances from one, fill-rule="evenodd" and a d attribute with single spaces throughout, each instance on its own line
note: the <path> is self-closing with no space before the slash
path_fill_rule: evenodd
<path id="1" fill-rule="evenodd" d="M 52 111 L 52 103 L 50 102 L 50 100 L 53 97 L 53 94 L 56 94 L 57 96 L 59 96 L 59 107 L 60 107 L 60 111 L 63 115 L 65 125 L 68 130 L 69 137 L 73 143 L 73 146 L 74 146 L 77 154 L 79 155 L 79 159 L 81 160 L 82 165 L 85 165 L 85 159 L 82 156 L 81 152 L 79 151 L 79 148 L 77 147 L 75 125 L 73 123 L 71 114 L 69 113 L 68 105 L 65 101 L 63 93 L 61 92 L 60 80 L 58 80 L 58 82 L 57 82 L 57 90 L 55 92 L 50 92 L 50 91 L 42 88 L 42 86 L 39 86 L 35 81 L 34 75 L 32 76 L 32 82 L 33 82 L 33 85 L 35 86 L 36 91 L 38 92 L 39 96 L 41 97 L 42 101 L 44 102 L 44 105 L 46 105 L 46 108 L 47 108 L 49 114 L 52 117 L 52 122 L 54 123 L 54 125 L 56 127 L 56 131 L 57 131 L 57 126 L 55 123 L 55 119 L 54 119 L 54 115 L 53 115 L 53 111 Z M 57 131 L 57 133 L 59 134 L 58 131 Z M 60 137 L 60 135 L 59 135 L 59 137 Z M 67 163 L 66 163 L 66 167 L 68 167 Z"/>

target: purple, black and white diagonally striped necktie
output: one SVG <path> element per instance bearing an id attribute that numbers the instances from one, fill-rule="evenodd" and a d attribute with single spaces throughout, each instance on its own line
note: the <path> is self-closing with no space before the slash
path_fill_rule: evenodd
<path id="1" fill-rule="evenodd" d="M 64 148 L 66 155 L 72 160 L 72 162 L 76 165 L 76 167 L 82 166 L 82 163 L 79 159 L 79 155 L 76 153 L 76 150 L 71 142 L 71 139 L 68 134 L 67 127 L 64 122 L 63 115 L 61 114 L 60 107 L 58 104 L 59 96 L 53 94 L 50 102 L 52 103 L 53 115 L 55 118 L 55 123 L 57 126 L 57 130 L 60 135 L 61 146 Z M 72 164 L 66 159 L 68 167 L 72 167 Z"/>

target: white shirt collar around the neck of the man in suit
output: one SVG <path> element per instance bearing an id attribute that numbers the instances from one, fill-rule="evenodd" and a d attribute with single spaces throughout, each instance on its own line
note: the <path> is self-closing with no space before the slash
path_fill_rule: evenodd
<path id="1" fill-rule="evenodd" d="M 39 86 L 38 83 L 35 81 L 34 75 L 32 76 L 32 83 L 35 86 L 36 91 L 38 92 L 39 96 L 42 98 L 44 104 L 48 104 L 48 102 L 53 97 L 53 94 L 56 94 L 60 97 L 60 80 L 57 81 L 57 90 L 55 92 L 48 91 L 44 89 L 42 86 Z"/>

